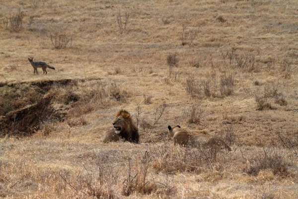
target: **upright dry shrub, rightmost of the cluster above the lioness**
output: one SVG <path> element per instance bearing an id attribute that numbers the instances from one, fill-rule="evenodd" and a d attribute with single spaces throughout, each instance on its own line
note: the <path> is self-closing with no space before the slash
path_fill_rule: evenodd
<path id="1" fill-rule="evenodd" d="M 226 75 L 224 72 L 220 79 L 220 91 L 222 96 L 230 96 L 234 93 L 235 74 Z"/>

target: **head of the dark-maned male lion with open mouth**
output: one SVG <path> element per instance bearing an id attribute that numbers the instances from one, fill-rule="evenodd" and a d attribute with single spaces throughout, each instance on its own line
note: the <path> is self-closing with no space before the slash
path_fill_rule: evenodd
<path id="1" fill-rule="evenodd" d="M 130 114 L 126 110 L 120 110 L 115 115 L 115 120 L 113 121 L 113 127 L 115 128 L 116 134 L 121 131 L 125 131 L 129 127 Z M 127 129 L 128 130 L 128 129 Z"/>

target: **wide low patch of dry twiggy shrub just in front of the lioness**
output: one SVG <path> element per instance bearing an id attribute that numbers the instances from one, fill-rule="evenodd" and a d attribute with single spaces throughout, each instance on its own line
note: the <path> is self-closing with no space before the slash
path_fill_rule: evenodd
<path id="1" fill-rule="evenodd" d="M 163 143 L 158 147 L 153 145 L 150 151 L 152 166 L 157 172 L 223 172 L 232 164 L 232 153 L 225 152 L 216 144 L 192 148 Z"/>

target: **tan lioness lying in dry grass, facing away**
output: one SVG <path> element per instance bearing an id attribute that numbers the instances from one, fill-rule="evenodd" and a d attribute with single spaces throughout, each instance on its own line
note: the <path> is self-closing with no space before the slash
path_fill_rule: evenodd
<path id="1" fill-rule="evenodd" d="M 171 127 L 168 125 L 169 134 L 174 139 L 174 144 L 179 144 L 181 146 L 191 145 L 191 146 L 214 146 L 217 145 L 220 148 L 224 147 L 227 150 L 231 151 L 231 148 L 224 143 L 223 140 L 215 138 L 211 135 L 191 135 L 185 130 L 182 130 L 179 125 Z"/>

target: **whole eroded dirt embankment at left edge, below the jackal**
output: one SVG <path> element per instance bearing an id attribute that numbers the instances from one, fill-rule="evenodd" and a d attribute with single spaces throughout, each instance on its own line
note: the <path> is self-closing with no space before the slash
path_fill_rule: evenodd
<path id="1" fill-rule="evenodd" d="M 57 85 L 72 87 L 77 81 L 90 80 L 64 79 L 17 84 L 0 83 L 2 91 L 0 94 L 0 136 L 26 136 L 40 129 L 41 124 L 46 120 L 54 118 L 59 121 L 64 120 L 67 110 L 53 106 L 52 100 L 55 94 L 50 91 Z"/>

